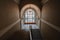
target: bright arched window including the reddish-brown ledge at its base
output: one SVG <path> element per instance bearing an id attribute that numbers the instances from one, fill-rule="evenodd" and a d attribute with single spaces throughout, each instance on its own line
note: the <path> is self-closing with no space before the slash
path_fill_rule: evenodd
<path id="1" fill-rule="evenodd" d="M 36 23 L 36 16 L 35 16 L 35 10 L 33 9 L 27 9 L 25 10 L 24 14 L 24 23 L 25 24 L 35 24 Z"/>

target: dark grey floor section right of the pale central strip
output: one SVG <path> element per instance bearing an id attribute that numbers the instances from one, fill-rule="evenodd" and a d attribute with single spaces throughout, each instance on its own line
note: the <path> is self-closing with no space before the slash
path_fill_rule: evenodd
<path id="1" fill-rule="evenodd" d="M 32 40 L 42 40 L 39 29 L 32 29 L 31 34 L 32 34 Z"/>

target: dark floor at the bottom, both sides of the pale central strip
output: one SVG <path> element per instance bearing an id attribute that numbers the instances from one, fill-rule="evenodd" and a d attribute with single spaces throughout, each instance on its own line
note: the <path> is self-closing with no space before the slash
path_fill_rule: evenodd
<path id="1" fill-rule="evenodd" d="M 32 29 L 32 40 L 42 40 L 40 30 Z M 13 33 L 7 40 L 30 40 L 29 32 L 26 31 L 17 31 Z"/>

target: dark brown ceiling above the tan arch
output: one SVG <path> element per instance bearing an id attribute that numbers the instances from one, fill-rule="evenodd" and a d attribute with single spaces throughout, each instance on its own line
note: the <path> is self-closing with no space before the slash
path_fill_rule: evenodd
<path id="1" fill-rule="evenodd" d="M 45 4 L 48 0 L 14 0 L 19 4 L 19 9 L 21 9 L 26 4 L 35 4 L 40 9 L 42 9 L 43 4 Z"/>

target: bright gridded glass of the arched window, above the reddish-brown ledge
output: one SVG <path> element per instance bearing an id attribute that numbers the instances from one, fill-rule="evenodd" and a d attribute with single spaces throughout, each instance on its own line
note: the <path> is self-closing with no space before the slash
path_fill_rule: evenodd
<path id="1" fill-rule="evenodd" d="M 35 22 L 35 11 L 32 9 L 28 9 L 25 11 L 25 22 L 33 23 Z"/>

